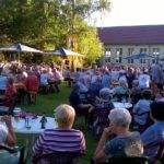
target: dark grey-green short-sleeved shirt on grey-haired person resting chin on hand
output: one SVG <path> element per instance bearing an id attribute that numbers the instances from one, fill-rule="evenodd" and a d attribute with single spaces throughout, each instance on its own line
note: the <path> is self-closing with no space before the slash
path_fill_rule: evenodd
<path id="1" fill-rule="evenodd" d="M 105 154 L 112 157 L 141 156 L 142 143 L 139 132 L 128 137 L 116 137 L 105 144 Z"/>

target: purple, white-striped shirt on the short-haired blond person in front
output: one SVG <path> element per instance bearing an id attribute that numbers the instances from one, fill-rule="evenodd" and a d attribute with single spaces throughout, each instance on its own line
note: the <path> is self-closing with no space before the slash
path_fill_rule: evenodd
<path id="1" fill-rule="evenodd" d="M 85 139 L 80 130 L 46 129 L 33 147 L 34 154 L 49 154 L 52 152 L 85 151 Z"/>

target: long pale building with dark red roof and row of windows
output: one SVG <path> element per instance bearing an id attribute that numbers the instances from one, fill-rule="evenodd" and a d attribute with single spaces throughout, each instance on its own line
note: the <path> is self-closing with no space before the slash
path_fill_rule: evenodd
<path id="1" fill-rule="evenodd" d="M 103 65 L 148 66 L 152 62 L 152 59 L 124 59 L 140 52 L 164 58 L 164 25 L 98 27 L 97 32 L 104 44 Z"/>

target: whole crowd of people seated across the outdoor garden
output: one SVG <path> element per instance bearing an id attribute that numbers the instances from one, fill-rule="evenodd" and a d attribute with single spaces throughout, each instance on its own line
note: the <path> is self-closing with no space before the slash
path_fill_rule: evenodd
<path id="1" fill-rule="evenodd" d="M 78 68 L 71 72 L 69 67 L 61 70 L 55 65 L 22 65 L 17 68 L 1 63 L 1 102 L 8 98 L 8 90 L 12 90 L 10 96 L 15 93 L 13 83 L 22 82 L 27 94 L 39 89 L 47 92 L 49 86 L 58 93 L 62 79 L 71 86 L 70 105 L 62 104 L 56 108 L 57 127 L 46 129 L 39 136 L 33 147 L 34 159 L 57 151 L 84 154 L 85 137 L 74 124 L 77 116 L 84 115 L 86 127 L 93 129 L 97 122 L 96 110 L 107 109 L 108 125 L 102 129 L 94 152 L 95 161 L 102 163 L 108 157 L 125 156 L 148 156 L 150 162 L 155 161 L 164 139 L 162 66 L 154 61 L 149 68 L 108 66 Z M 132 107 L 115 107 L 114 102 L 128 102 Z M 1 142 L 15 144 L 10 119 L 4 117 L 3 120 L 8 128 L 0 127 Z"/>

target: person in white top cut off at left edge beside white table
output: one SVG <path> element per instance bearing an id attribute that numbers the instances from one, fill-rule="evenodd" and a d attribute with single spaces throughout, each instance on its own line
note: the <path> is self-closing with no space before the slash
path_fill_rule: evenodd
<path id="1" fill-rule="evenodd" d="M 0 144 L 14 147 L 16 143 L 16 138 L 13 131 L 11 117 L 2 116 L 1 121 L 5 122 L 5 126 L 0 125 Z"/>

